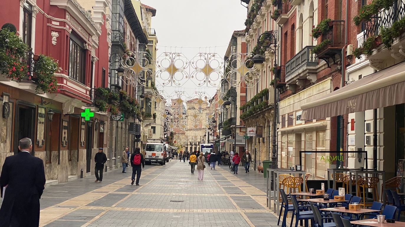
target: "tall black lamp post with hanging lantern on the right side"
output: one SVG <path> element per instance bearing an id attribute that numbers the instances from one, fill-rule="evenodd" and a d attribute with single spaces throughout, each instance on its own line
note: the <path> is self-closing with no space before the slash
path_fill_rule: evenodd
<path id="1" fill-rule="evenodd" d="M 277 47 L 277 37 L 275 32 L 264 32 L 262 33 L 257 39 L 257 47 L 260 49 L 261 47 L 265 49 L 270 49 L 274 52 L 274 64 L 273 67 L 277 67 L 277 54 L 276 54 L 276 47 Z M 260 71 L 263 68 L 264 57 L 261 54 L 256 54 L 252 61 L 254 63 L 255 68 Z M 271 165 L 272 168 L 277 168 L 277 149 L 276 149 L 276 136 L 277 136 L 277 75 L 274 75 L 274 115 L 273 115 L 273 141 L 272 141 L 272 155 L 271 155 Z"/>

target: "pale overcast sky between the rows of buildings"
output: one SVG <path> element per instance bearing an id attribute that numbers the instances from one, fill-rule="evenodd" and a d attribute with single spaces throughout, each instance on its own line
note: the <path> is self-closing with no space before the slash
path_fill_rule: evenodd
<path id="1" fill-rule="evenodd" d="M 141 2 L 156 8 L 156 16 L 152 18 L 151 27 L 156 29 L 158 37 L 158 56 L 162 52 L 176 51 L 191 60 L 200 51 L 215 52 L 223 58 L 232 32 L 245 29 L 246 8 L 241 6 L 239 0 L 141 0 Z M 176 46 L 178 48 L 174 48 Z M 205 48 L 210 46 L 211 48 Z M 198 49 L 199 47 L 201 48 Z M 157 84 L 159 83 L 161 84 L 157 79 Z M 171 94 L 175 89 L 185 90 L 189 94 L 197 90 L 212 96 L 216 88 L 211 86 L 201 89 L 188 83 L 181 88 L 165 87 L 164 90 L 167 94 Z"/>

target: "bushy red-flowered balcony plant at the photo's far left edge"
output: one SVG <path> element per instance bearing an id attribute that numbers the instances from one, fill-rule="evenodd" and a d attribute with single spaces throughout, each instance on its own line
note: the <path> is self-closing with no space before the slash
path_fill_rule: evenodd
<path id="1" fill-rule="evenodd" d="M 27 64 L 26 56 L 29 48 L 15 31 L 10 30 L 11 24 L 9 27 L 6 25 L 0 30 L 0 74 L 6 77 L 1 80 L 21 81 L 27 75 L 31 76 L 28 73 L 31 66 Z"/>

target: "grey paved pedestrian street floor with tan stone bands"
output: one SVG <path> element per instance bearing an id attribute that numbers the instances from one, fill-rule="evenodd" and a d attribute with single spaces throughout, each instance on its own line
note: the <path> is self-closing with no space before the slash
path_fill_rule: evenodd
<path id="1" fill-rule="evenodd" d="M 265 192 L 254 186 L 265 186 L 263 176 L 240 172 L 207 168 L 198 181 L 187 162 L 171 161 L 147 166 L 141 186 L 130 185 L 130 171 L 119 169 L 106 173 L 101 184 L 90 177 L 50 186 L 41 199 L 40 226 L 275 227 L 277 217 L 266 208 Z"/>

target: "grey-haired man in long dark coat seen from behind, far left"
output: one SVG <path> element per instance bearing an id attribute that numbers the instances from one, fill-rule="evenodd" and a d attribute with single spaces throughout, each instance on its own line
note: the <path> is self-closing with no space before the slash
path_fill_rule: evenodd
<path id="1" fill-rule="evenodd" d="M 39 226 L 39 199 L 45 188 L 44 164 L 32 156 L 30 138 L 19 141 L 20 152 L 4 160 L 0 191 L 4 198 L 0 208 L 0 226 Z"/>

